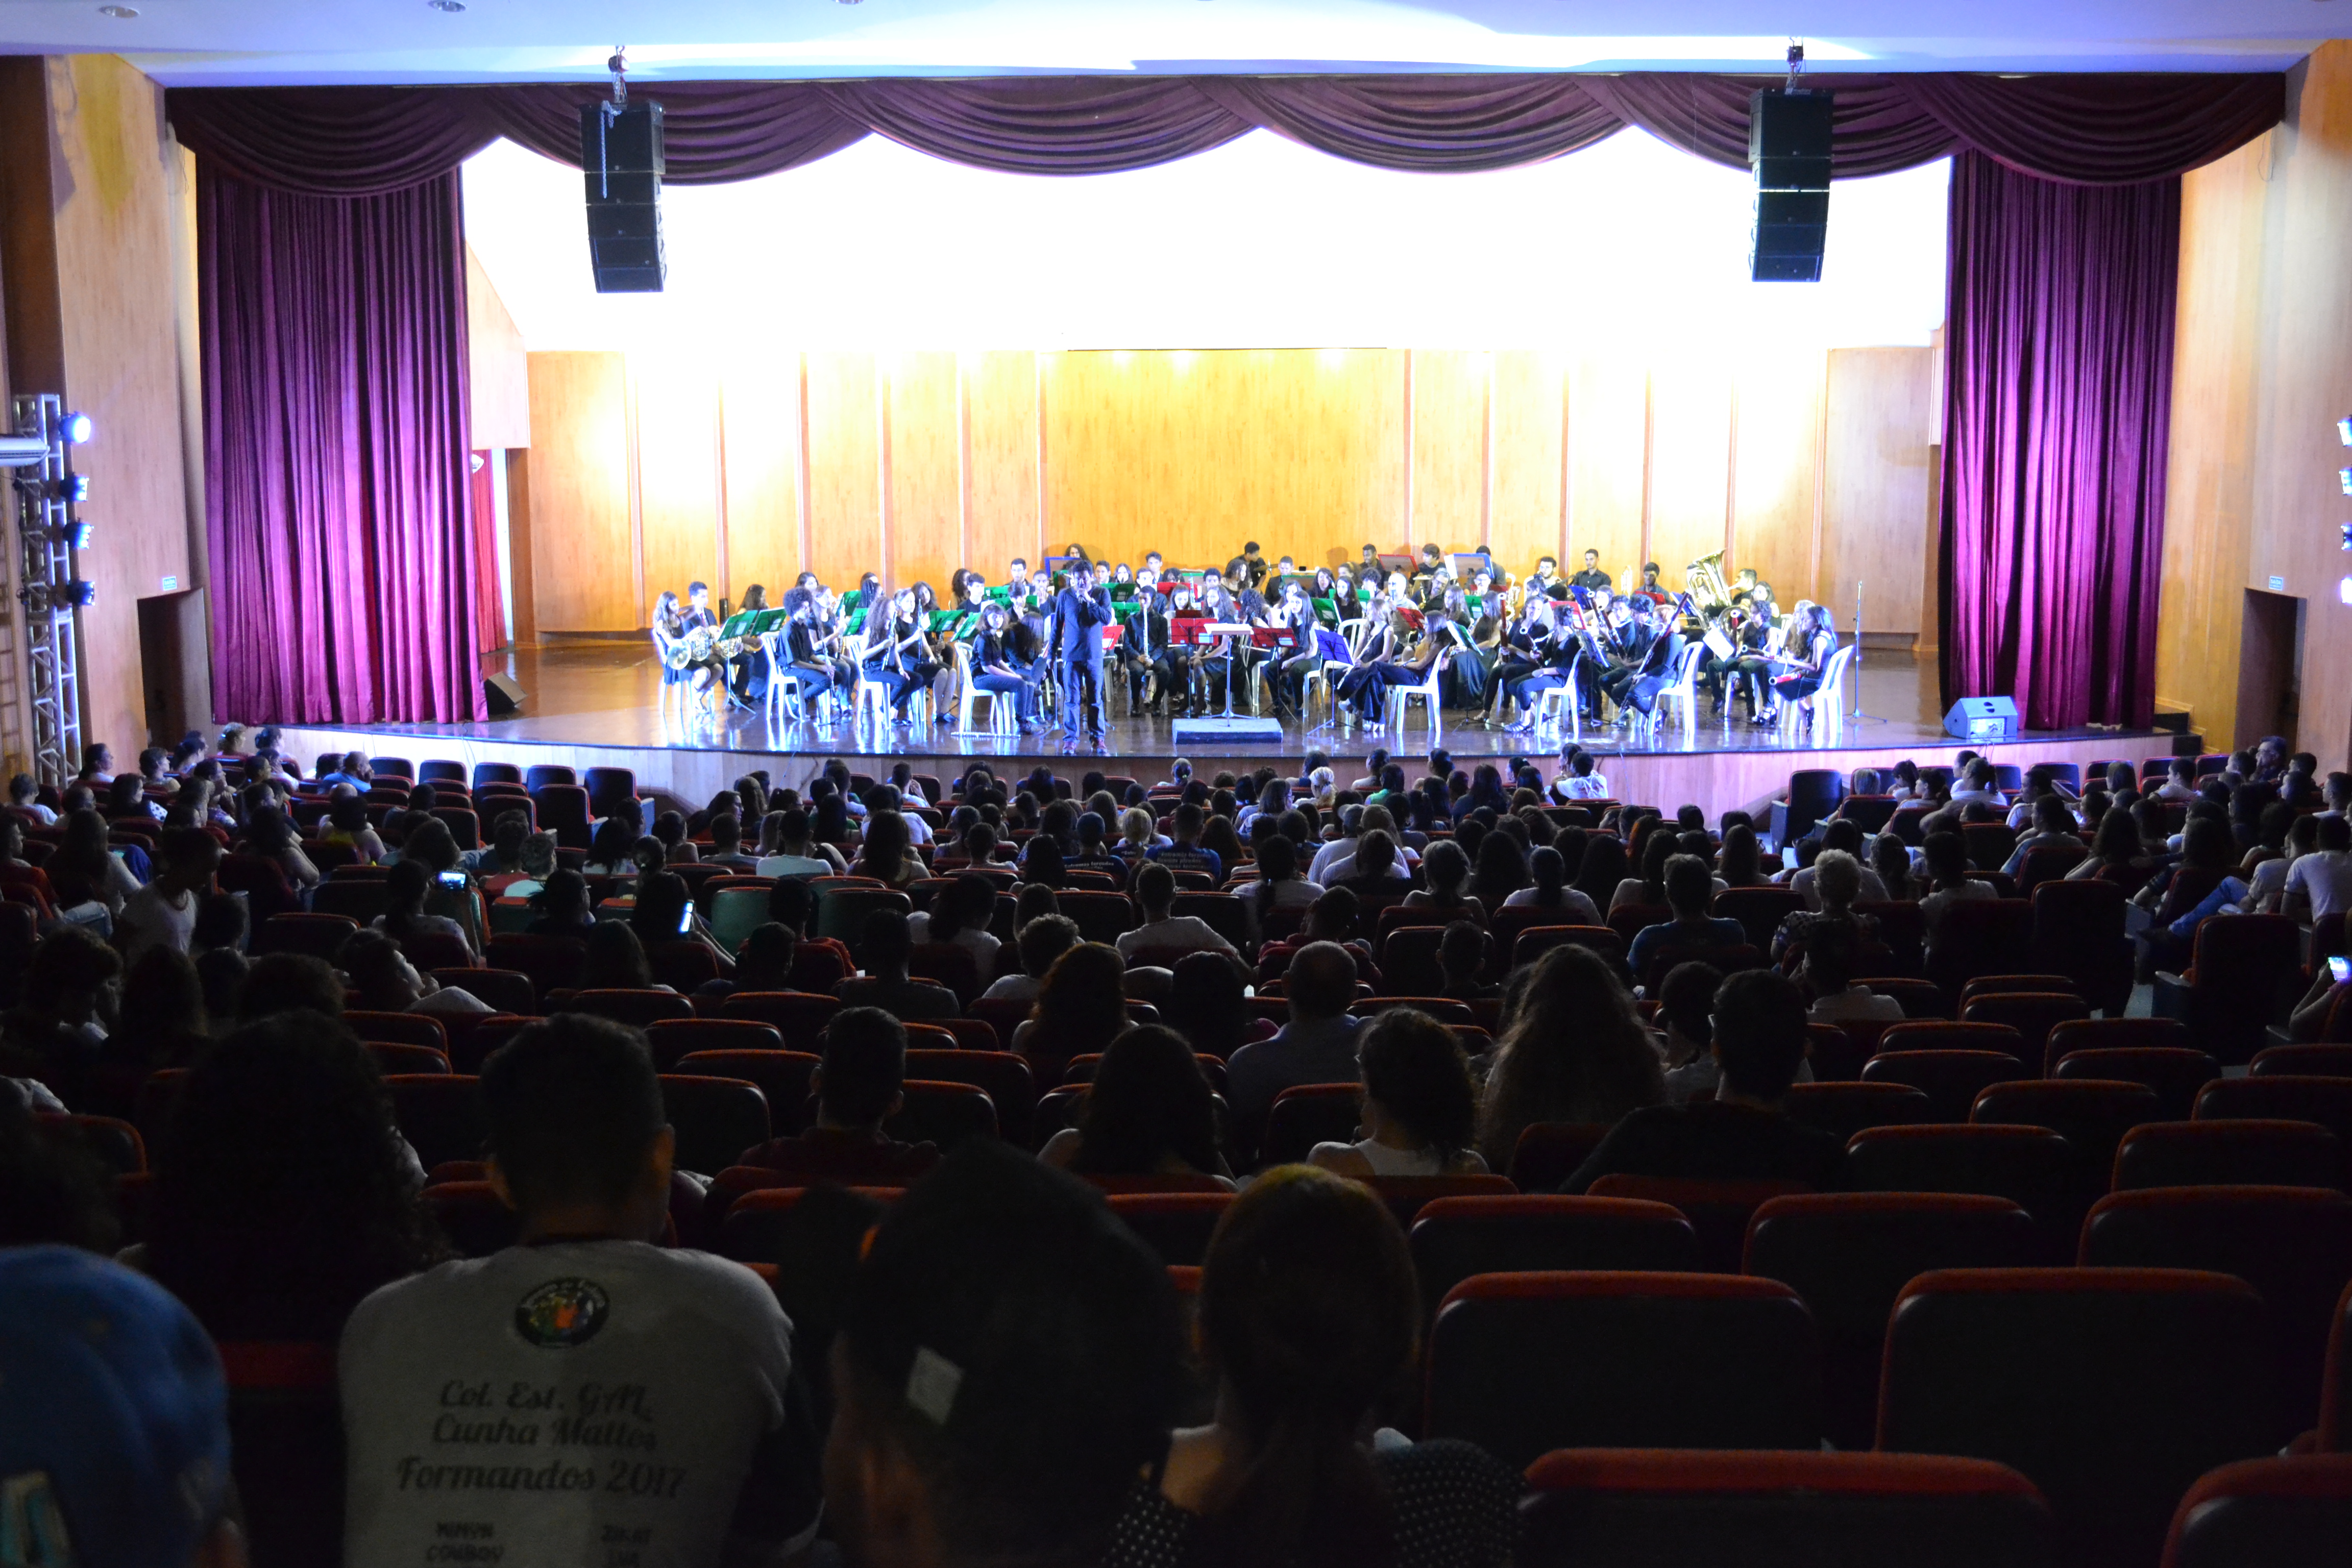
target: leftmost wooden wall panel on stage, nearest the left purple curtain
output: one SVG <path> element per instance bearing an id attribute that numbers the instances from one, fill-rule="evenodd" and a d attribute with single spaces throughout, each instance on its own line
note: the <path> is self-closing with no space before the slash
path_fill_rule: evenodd
<path id="1" fill-rule="evenodd" d="M 532 355 L 532 595 L 539 630 L 633 630 L 623 355 Z"/>

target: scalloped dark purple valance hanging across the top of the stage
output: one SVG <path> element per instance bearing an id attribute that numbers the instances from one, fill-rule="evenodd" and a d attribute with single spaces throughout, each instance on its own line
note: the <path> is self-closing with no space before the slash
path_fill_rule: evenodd
<path id="1" fill-rule="evenodd" d="M 1628 125 L 1724 165 L 1748 162 L 1748 94 L 1778 78 L 1204 75 L 861 82 L 659 82 L 668 179 L 776 174 L 889 136 L 1011 174 L 1112 174 L 1265 127 L 1383 169 L 1468 172 L 1559 158 Z M 1842 176 L 1976 150 L 2039 179 L 2129 186 L 2211 162 L 2279 122 L 2260 75 L 1823 75 Z M 579 162 L 595 82 L 520 87 L 174 87 L 179 139 L 242 181 L 376 195 L 447 174 L 499 136 Z"/>

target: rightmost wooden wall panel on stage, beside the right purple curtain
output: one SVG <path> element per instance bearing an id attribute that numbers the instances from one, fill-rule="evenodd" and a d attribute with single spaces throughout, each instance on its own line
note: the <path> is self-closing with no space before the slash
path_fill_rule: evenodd
<path id="1" fill-rule="evenodd" d="M 1828 447 L 1816 599 L 1853 630 L 1863 583 L 1863 630 L 1917 635 L 1919 552 L 1926 548 L 1929 367 L 1926 348 L 1835 348 L 1828 381 Z"/>

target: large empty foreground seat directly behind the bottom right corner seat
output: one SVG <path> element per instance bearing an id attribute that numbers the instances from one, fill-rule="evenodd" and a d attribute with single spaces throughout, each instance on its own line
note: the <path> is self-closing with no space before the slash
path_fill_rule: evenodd
<path id="1" fill-rule="evenodd" d="M 2270 1443 L 2263 1298 L 2197 1269 L 1940 1269 L 1896 1300 L 1877 1446 L 2013 1465 L 2058 1561 L 2145 1568 L 2173 1502 Z"/>

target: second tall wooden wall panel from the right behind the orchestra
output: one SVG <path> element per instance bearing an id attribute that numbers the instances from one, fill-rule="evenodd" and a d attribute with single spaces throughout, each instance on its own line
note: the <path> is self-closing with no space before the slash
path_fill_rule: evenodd
<path id="1" fill-rule="evenodd" d="M 1813 597 L 1820 381 L 1820 357 L 1766 360 L 1738 374 L 1738 517 L 1724 576 L 1755 567 L 1783 604 Z"/>

